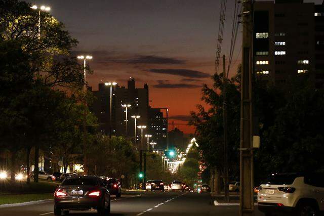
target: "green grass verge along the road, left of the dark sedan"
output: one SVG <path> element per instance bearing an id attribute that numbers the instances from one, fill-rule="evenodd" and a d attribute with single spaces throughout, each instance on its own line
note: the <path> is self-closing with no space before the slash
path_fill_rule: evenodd
<path id="1" fill-rule="evenodd" d="M 53 199 L 53 193 L 1 195 L 0 205 L 30 202 L 30 201 L 44 200 L 44 199 Z"/>

